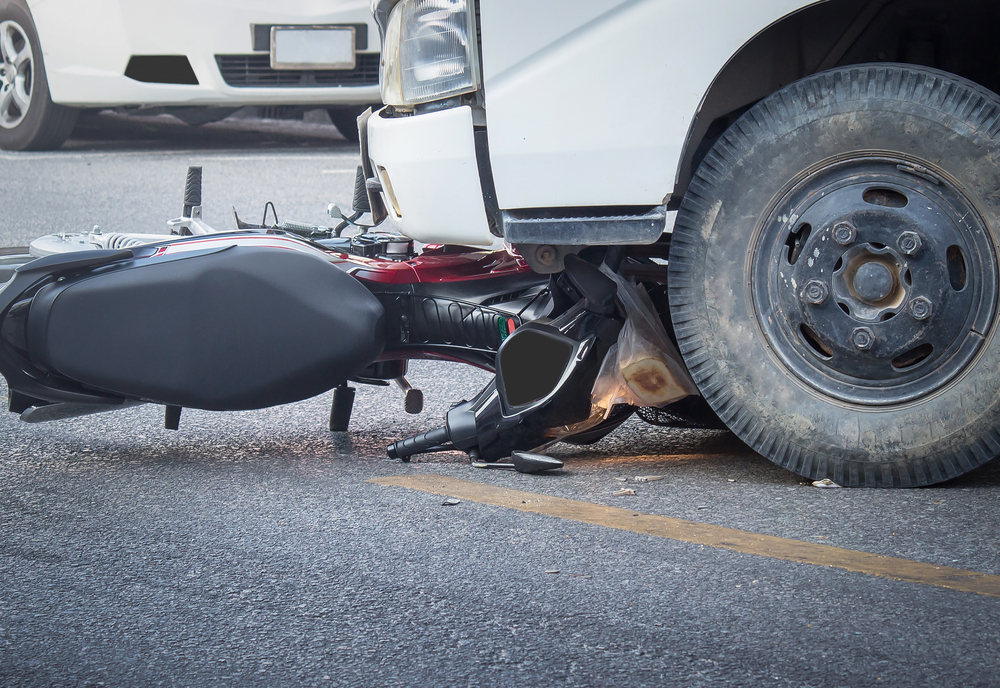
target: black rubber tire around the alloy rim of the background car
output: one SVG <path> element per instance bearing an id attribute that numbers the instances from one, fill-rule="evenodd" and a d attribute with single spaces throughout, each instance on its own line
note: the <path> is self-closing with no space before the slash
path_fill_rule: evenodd
<path id="1" fill-rule="evenodd" d="M 0 22 L 6 20 L 17 22 L 31 43 L 34 84 L 24 119 L 11 129 L 0 127 L 0 149 L 55 150 L 73 132 L 78 110 L 56 105 L 49 97 L 42 48 L 27 6 L 21 0 L 0 0 Z"/>

